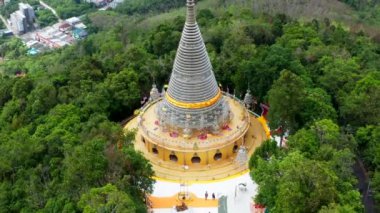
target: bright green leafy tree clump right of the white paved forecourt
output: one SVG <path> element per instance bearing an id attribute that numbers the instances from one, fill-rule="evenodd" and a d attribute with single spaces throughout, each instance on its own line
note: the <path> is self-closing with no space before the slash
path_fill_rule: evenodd
<path id="1" fill-rule="evenodd" d="M 274 148 L 270 158 L 261 149 L 251 158 L 256 162 L 250 164 L 251 175 L 259 185 L 255 201 L 270 211 L 362 211 L 351 169 L 355 156 L 351 150 L 355 147 L 330 120 L 317 121 L 311 128 L 297 131 L 289 137 L 288 148 Z"/>

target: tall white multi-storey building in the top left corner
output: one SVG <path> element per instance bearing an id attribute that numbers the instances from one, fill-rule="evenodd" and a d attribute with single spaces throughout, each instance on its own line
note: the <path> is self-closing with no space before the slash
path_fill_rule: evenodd
<path id="1" fill-rule="evenodd" d="M 15 34 L 24 34 L 33 30 L 36 15 L 29 4 L 19 3 L 19 10 L 10 16 L 10 24 Z"/>

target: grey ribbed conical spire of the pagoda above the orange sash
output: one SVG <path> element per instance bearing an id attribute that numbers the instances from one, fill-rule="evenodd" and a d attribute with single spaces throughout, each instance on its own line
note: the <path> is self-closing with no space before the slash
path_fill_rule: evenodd
<path id="1" fill-rule="evenodd" d="M 187 1 L 186 23 L 167 91 L 173 99 L 189 103 L 208 101 L 219 92 L 194 13 L 194 1 Z"/>

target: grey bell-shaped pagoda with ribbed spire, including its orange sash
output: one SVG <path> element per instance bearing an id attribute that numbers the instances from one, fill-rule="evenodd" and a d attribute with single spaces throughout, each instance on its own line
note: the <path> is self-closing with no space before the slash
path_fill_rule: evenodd
<path id="1" fill-rule="evenodd" d="M 156 110 L 163 129 L 188 136 L 194 131 L 217 133 L 229 122 L 229 106 L 216 82 L 196 22 L 194 0 L 187 0 L 186 23 L 168 90 Z"/>

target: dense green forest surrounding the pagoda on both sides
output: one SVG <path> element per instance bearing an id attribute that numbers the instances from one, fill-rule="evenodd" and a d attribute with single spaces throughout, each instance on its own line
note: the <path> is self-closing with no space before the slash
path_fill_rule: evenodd
<path id="1" fill-rule="evenodd" d="M 271 212 L 361 212 L 352 166 L 362 159 L 380 202 L 379 44 L 327 18 L 221 5 L 197 18 L 217 80 L 239 97 L 249 87 L 270 104 L 271 127 L 290 134 L 251 158 L 255 200 Z M 92 34 L 58 51 L 27 57 L 17 39 L 0 49 L 9 59 L 0 64 L 0 212 L 145 212 L 153 172 L 119 122 L 153 81 L 168 82 L 185 19 L 125 15 L 142 8 L 88 15 Z"/>

